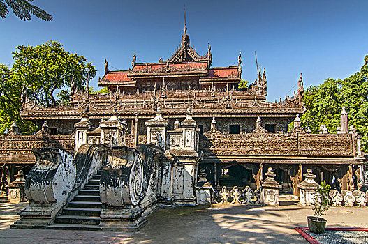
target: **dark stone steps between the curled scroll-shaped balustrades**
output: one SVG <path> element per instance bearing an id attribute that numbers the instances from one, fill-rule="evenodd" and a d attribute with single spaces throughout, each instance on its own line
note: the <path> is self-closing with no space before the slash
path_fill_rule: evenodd
<path id="1" fill-rule="evenodd" d="M 101 230 L 98 226 L 102 209 L 100 178 L 101 170 L 98 170 L 88 184 L 84 185 L 83 190 L 79 190 L 78 195 L 64 207 L 61 215 L 55 218 L 54 224 L 47 226 L 47 229 Z"/>

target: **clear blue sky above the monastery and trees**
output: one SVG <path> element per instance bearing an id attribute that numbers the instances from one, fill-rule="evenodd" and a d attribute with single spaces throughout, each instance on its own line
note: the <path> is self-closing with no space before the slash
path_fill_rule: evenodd
<path id="1" fill-rule="evenodd" d="M 360 70 L 368 54 L 368 1 L 97 1 L 35 0 L 54 17 L 31 22 L 9 13 L 0 20 L 0 63 L 11 65 L 17 45 L 58 40 L 86 56 L 98 69 L 91 84 L 110 69 L 126 70 L 133 52 L 138 61 L 167 59 L 183 33 L 183 8 L 191 43 L 199 54 L 212 46 L 212 66 L 237 63 L 253 82 L 258 64 L 267 72 L 267 100 L 293 95 L 303 73 L 304 86 L 327 77 L 345 78 Z"/>

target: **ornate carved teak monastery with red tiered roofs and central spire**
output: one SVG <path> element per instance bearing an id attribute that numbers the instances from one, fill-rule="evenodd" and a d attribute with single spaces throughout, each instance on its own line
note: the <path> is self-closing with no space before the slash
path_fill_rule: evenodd
<path id="1" fill-rule="evenodd" d="M 38 132 L 19 135 L 14 124 L 8 134 L 0 136 L 2 184 L 13 181 L 18 169 L 27 174 L 36 162 L 32 153 L 36 148 L 76 153 L 82 144 L 111 143 L 111 137 L 101 131 L 115 116 L 126 128 L 117 135 L 124 139 L 115 140 L 128 147 L 158 145 L 165 152 L 163 161 L 171 160 L 171 181 L 186 181 L 179 174 L 188 169 L 182 158 L 190 156 L 195 165 L 191 168 L 193 184 L 199 169 L 205 169 L 216 189 L 224 185 L 256 189 L 268 167 L 277 174 L 281 192 L 298 195 L 297 184 L 307 168 L 314 170 L 317 182 L 327 181 L 332 188 L 360 188 L 365 158 L 360 136 L 353 128 L 349 131 L 346 112 L 341 112 L 338 134 L 325 128 L 312 134 L 300 127 L 298 116 L 304 112 L 302 75 L 295 80 L 294 96 L 267 102 L 265 69 L 259 69 L 258 79 L 240 90 L 241 54 L 237 60 L 236 66 L 213 67 L 211 47 L 208 45 L 204 55 L 198 54 L 184 26 L 179 47 L 166 60 L 137 63 L 134 54 L 132 67 L 119 71 L 109 70 L 105 61 L 105 75 L 98 85 L 108 93 L 89 94 L 72 88 L 70 105 L 57 107 L 41 107 L 25 99 L 22 119 L 36 123 Z M 294 128 L 288 132 L 290 123 Z M 149 126 L 153 127 L 147 129 Z M 193 131 L 186 130 L 191 126 Z M 193 153 L 183 154 L 182 145 L 193 143 Z M 175 168 L 179 163 L 184 166 Z"/>

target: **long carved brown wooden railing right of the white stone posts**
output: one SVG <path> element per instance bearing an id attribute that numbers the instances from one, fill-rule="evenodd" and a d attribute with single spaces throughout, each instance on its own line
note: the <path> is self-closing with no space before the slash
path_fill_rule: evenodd
<path id="1" fill-rule="evenodd" d="M 214 155 L 304 155 L 354 156 L 351 134 L 272 134 L 233 135 L 210 130 L 200 135 L 200 151 Z"/>

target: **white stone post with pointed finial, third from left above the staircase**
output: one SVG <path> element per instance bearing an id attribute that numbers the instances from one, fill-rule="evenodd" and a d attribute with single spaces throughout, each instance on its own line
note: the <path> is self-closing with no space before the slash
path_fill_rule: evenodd
<path id="1" fill-rule="evenodd" d="M 154 119 L 146 121 L 147 125 L 147 144 L 156 144 L 163 151 L 166 149 L 166 128 L 168 121 L 163 119 L 161 108 L 157 108 Z"/>

